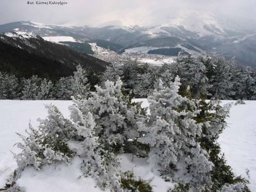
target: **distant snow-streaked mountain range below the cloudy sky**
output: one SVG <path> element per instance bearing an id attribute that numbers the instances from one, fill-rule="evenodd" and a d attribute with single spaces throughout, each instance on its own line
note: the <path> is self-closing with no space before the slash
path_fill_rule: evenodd
<path id="1" fill-rule="evenodd" d="M 22 21 L 0 25 L 0 32 L 33 33 L 46 40 L 57 41 L 58 44 L 64 44 L 76 51 L 92 55 L 93 51 L 90 47 L 92 43 L 118 54 L 134 53 L 142 49 L 147 50 L 143 54 L 147 54 L 148 51 L 161 54 L 163 49 L 170 51 L 179 48 L 190 54 L 200 54 L 205 51 L 228 59 L 235 58 L 238 65 L 256 67 L 256 30 L 253 33 L 253 31 L 241 31 L 237 28 L 225 28 L 224 25 L 212 19 L 197 20 L 193 24 L 189 22 L 180 24 L 184 26 L 169 23 L 151 27 L 104 26 L 95 28 L 54 26 Z M 161 51 L 154 51 L 156 49 L 161 49 Z"/>

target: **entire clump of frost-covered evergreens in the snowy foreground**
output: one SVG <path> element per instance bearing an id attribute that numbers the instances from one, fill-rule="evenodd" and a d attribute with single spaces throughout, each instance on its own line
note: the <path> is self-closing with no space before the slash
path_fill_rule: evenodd
<path id="1" fill-rule="evenodd" d="M 87 98 L 73 97 L 72 121 L 47 106 L 48 116 L 38 120 L 38 129 L 29 125 L 28 136 L 19 135 L 22 152 L 15 154 L 18 168 L 8 182 L 10 190 L 19 188 L 15 182 L 26 167 L 68 164 L 76 156 L 83 160 L 81 177 L 92 177 L 101 189 L 152 191 L 147 181 L 122 173 L 117 154 L 125 152 L 147 157 L 155 172 L 176 182 L 170 191 L 250 191 L 245 179 L 235 177 L 216 142 L 227 126 L 230 104 L 180 95 L 179 77 L 168 86 L 157 82 L 148 97 L 148 116 L 140 103 L 124 95 L 120 79 L 95 86 Z"/>

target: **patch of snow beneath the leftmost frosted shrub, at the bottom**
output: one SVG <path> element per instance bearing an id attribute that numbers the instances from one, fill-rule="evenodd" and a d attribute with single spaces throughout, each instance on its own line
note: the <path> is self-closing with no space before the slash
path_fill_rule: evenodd
<path id="1" fill-rule="evenodd" d="M 83 177 L 80 170 L 82 160 L 72 159 L 70 165 L 45 166 L 40 171 L 26 169 L 17 184 L 26 192 L 102 191 L 91 177 Z M 108 190 L 106 190 L 108 192 Z"/>

